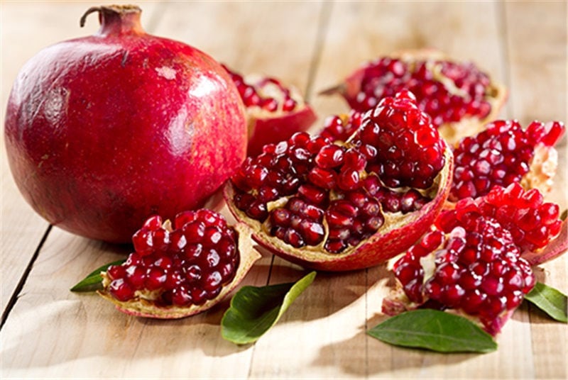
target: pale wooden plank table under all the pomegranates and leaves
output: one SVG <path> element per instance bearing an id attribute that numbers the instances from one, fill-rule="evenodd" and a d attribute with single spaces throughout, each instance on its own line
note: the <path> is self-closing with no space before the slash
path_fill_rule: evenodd
<path id="1" fill-rule="evenodd" d="M 1 3 L 1 118 L 18 69 L 80 30 L 84 2 Z M 501 116 L 527 125 L 567 121 L 567 3 L 535 2 L 140 2 L 148 32 L 182 40 L 241 72 L 264 72 L 307 94 L 320 121 L 346 111 L 317 96 L 361 62 L 400 48 L 437 47 L 474 60 L 510 89 Z M 548 199 L 567 208 L 566 138 Z M 37 216 L 13 184 L 1 144 L 1 377 L 566 378 L 567 326 L 521 307 L 491 354 L 404 350 L 366 335 L 382 319 L 383 267 L 319 274 L 256 345 L 222 339 L 227 303 L 182 320 L 129 317 L 94 294 L 68 289 L 128 248 L 87 240 Z M 568 292 L 566 256 L 540 281 Z M 299 279 L 299 267 L 265 255 L 244 283 Z"/>

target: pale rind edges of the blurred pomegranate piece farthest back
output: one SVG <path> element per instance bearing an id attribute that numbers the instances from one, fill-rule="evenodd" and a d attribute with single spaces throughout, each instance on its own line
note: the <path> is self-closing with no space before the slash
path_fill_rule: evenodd
<path id="1" fill-rule="evenodd" d="M 446 60 L 453 61 L 451 57 L 435 49 L 417 49 L 417 50 L 400 50 L 393 52 L 388 57 L 400 59 L 405 62 L 413 62 L 417 60 Z M 348 99 L 356 98 L 361 89 L 361 82 L 364 79 L 366 65 L 362 65 L 356 69 L 353 74 L 344 79 L 342 84 L 334 86 L 330 89 L 321 91 L 320 94 L 332 95 L 339 94 L 348 101 Z M 484 118 L 478 116 L 465 116 L 460 121 L 443 123 L 439 125 L 438 132 L 451 145 L 457 143 L 461 138 L 476 135 L 485 129 L 486 123 L 495 120 L 501 109 L 508 99 L 508 89 L 504 84 L 495 82 L 491 79 L 491 83 L 486 89 L 486 98 L 484 99 L 491 105 L 491 111 Z"/>

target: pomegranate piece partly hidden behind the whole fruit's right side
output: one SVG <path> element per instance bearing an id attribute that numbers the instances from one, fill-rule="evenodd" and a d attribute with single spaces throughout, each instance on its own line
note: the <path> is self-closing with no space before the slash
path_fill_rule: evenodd
<path id="1" fill-rule="evenodd" d="M 246 106 L 249 125 L 247 155 L 261 154 L 262 147 L 290 138 L 310 128 L 317 116 L 294 86 L 285 86 L 273 77 L 241 74 L 224 68 L 231 75 Z"/>

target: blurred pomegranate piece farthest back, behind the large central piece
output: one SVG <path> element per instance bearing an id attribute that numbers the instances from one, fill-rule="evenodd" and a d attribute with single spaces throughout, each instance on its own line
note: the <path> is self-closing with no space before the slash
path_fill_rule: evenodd
<path id="1" fill-rule="evenodd" d="M 435 50 L 408 50 L 367 62 L 343 84 L 322 92 L 341 94 L 356 111 L 408 89 L 441 135 L 454 143 L 482 130 L 506 101 L 507 91 L 471 62 L 457 62 Z"/>

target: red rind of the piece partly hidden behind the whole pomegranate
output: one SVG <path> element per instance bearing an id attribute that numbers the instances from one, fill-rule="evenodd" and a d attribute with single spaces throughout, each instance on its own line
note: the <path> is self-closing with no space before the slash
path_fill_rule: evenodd
<path id="1" fill-rule="evenodd" d="M 255 108 L 246 110 L 249 130 L 246 155 L 250 157 L 260 155 L 264 145 L 287 140 L 296 132 L 305 132 L 317 120 L 314 110 L 307 103 L 290 112 L 260 111 Z"/>

